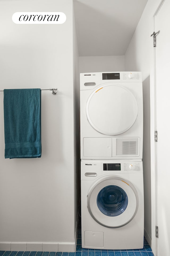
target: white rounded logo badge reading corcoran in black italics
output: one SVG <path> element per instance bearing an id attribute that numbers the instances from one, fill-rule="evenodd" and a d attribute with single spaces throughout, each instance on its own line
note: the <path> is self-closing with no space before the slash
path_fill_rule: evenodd
<path id="1" fill-rule="evenodd" d="M 66 15 L 61 12 L 17 12 L 12 15 L 16 24 L 62 24 Z"/>

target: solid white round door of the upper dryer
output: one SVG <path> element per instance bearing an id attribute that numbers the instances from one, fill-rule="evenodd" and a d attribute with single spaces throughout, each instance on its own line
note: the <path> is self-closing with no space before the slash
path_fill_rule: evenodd
<path id="1" fill-rule="evenodd" d="M 127 131 L 135 122 L 138 105 L 127 88 L 115 83 L 102 85 L 88 98 L 86 114 L 91 126 L 102 134 Z"/>

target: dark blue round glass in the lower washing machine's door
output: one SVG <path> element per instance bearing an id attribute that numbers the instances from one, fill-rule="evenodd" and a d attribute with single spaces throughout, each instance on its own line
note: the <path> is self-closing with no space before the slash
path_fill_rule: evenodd
<path id="1" fill-rule="evenodd" d="M 97 206 L 107 216 L 122 214 L 128 205 L 126 192 L 116 185 L 110 185 L 100 190 L 97 195 Z"/>

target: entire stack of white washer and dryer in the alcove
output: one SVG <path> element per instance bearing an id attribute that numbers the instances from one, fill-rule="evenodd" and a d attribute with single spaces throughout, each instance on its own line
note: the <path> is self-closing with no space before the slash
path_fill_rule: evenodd
<path id="1" fill-rule="evenodd" d="M 80 74 L 82 247 L 143 248 L 141 72 Z"/>

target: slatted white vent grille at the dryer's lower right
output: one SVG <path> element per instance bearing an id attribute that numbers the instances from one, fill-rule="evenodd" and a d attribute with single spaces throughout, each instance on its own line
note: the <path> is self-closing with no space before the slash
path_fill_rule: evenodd
<path id="1" fill-rule="evenodd" d="M 138 155 L 139 139 L 122 138 L 116 139 L 116 155 Z"/>

